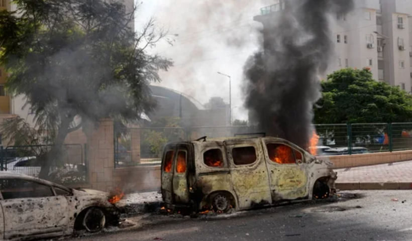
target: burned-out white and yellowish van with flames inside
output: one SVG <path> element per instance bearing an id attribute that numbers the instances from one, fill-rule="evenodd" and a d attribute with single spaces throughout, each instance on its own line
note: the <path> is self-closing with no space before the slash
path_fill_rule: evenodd
<path id="1" fill-rule="evenodd" d="M 337 173 L 279 138 L 201 138 L 168 144 L 161 189 L 167 208 L 226 212 L 327 198 Z"/>

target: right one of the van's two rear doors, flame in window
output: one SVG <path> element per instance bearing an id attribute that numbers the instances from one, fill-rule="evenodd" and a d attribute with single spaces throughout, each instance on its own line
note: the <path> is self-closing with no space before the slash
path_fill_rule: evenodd
<path id="1" fill-rule="evenodd" d="M 188 175 L 189 166 L 193 160 L 193 148 L 189 144 L 177 145 L 177 153 L 175 157 L 175 167 L 173 175 L 173 199 L 175 204 L 189 203 Z M 190 168 L 191 169 L 191 168 Z M 190 174 L 193 172 L 190 171 Z"/>

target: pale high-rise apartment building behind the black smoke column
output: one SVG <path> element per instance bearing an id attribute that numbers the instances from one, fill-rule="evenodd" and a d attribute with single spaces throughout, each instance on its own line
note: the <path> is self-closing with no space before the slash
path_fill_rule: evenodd
<path id="1" fill-rule="evenodd" d="M 254 20 L 269 26 L 291 1 L 267 2 Z M 355 0 L 351 13 L 330 16 L 335 51 L 327 72 L 369 67 L 377 81 L 412 93 L 411 15 L 412 0 Z"/>

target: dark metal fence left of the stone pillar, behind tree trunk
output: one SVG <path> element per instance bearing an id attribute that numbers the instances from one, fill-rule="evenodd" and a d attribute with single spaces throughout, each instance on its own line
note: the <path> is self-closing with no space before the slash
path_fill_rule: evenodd
<path id="1" fill-rule="evenodd" d="M 39 177 L 45 168 L 47 153 L 52 146 L 0 146 L 0 171 L 11 171 Z M 63 145 L 59 157 L 51 163 L 50 181 L 60 184 L 86 183 L 86 146 L 80 144 Z"/>

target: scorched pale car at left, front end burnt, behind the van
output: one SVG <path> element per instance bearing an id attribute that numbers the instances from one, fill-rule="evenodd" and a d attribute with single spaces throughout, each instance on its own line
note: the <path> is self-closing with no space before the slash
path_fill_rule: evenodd
<path id="1" fill-rule="evenodd" d="M 0 239 L 22 240 L 96 232 L 118 223 L 110 195 L 75 190 L 19 173 L 0 172 Z"/>

